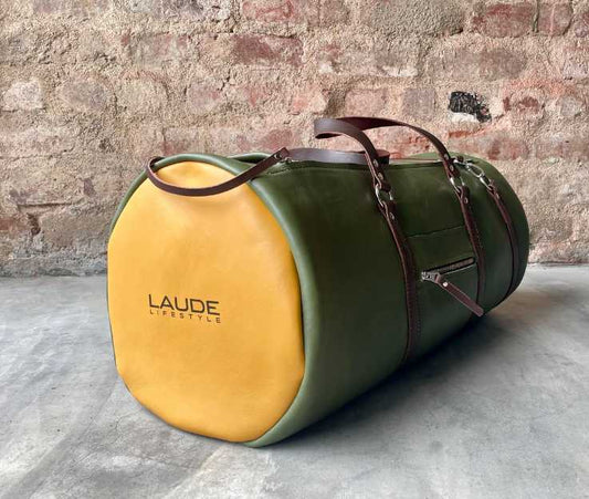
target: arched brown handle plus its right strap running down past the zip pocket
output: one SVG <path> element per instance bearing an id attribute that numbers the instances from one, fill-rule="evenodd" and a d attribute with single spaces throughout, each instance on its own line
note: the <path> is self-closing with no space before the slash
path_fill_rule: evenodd
<path id="1" fill-rule="evenodd" d="M 346 128 L 343 128 L 341 125 L 335 122 L 339 122 L 340 124 L 346 124 Z M 341 132 L 344 129 L 349 129 L 347 128 L 349 125 L 353 125 L 358 131 L 366 131 L 366 129 L 381 128 L 381 127 L 389 127 L 389 126 L 407 127 L 407 128 L 410 128 L 417 132 L 421 136 L 425 137 L 433 145 L 433 147 L 435 148 L 435 150 L 438 152 L 438 155 L 440 156 L 442 160 L 442 165 L 444 167 L 444 171 L 448 176 L 448 179 L 452 184 L 452 187 L 454 188 L 454 191 L 459 199 L 460 208 L 461 208 L 462 216 L 464 219 L 464 226 L 466 227 L 466 232 L 469 233 L 469 239 L 471 241 L 471 246 L 476 257 L 476 270 L 478 273 L 477 288 L 476 288 L 476 301 L 478 302 L 480 298 L 482 297 L 484 287 L 485 287 L 485 257 L 484 257 L 484 251 L 483 251 L 483 245 L 481 242 L 481 236 L 478 232 L 478 228 L 476 226 L 474 212 L 471 208 L 469 187 L 466 187 L 466 185 L 462 180 L 460 176 L 460 170 L 454 164 L 454 159 L 450 156 L 450 153 L 448 152 L 446 147 L 443 145 L 442 141 L 440 141 L 432 133 L 423 128 L 420 128 L 419 126 L 410 125 L 408 123 L 400 122 L 397 119 L 364 117 L 364 116 L 347 116 L 347 117 L 340 117 L 340 118 L 316 119 L 315 121 L 315 136 L 317 138 L 330 137 L 330 136 L 337 135 L 337 131 Z M 368 139 L 366 134 L 362 133 L 362 135 L 366 137 L 366 139 Z M 353 137 L 353 138 L 356 138 L 356 137 Z"/>

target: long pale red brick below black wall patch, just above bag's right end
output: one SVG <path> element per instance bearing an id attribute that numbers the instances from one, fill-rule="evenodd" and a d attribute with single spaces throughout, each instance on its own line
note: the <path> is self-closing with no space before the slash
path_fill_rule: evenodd
<path id="1" fill-rule="evenodd" d="M 480 155 L 490 160 L 525 159 L 529 149 L 525 138 L 506 132 L 478 133 L 461 138 L 451 138 L 453 150 Z"/>

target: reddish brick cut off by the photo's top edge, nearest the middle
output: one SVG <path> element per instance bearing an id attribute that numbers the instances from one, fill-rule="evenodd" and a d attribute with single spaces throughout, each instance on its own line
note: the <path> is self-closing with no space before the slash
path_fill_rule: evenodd
<path id="1" fill-rule="evenodd" d="M 262 22 L 307 22 L 319 18 L 319 2 L 315 0 L 243 0 L 244 19 Z"/>

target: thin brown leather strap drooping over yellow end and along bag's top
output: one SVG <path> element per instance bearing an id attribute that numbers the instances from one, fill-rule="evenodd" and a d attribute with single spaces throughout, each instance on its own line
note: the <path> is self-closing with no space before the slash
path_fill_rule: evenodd
<path id="1" fill-rule="evenodd" d="M 376 149 L 375 149 L 376 150 Z M 382 164 L 388 164 L 390 153 L 388 150 L 378 149 L 376 150 L 377 160 Z M 262 159 L 260 163 L 256 163 L 251 168 L 245 171 L 236 175 L 235 177 L 223 181 L 221 184 L 209 186 L 209 187 L 181 187 L 167 181 L 161 180 L 156 173 L 154 171 L 154 166 L 157 162 L 164 159 L 161 156 L 152 157 L 145 165 L 145 171 L 149 180 L 154 183 L 156 187 L 159 187 L 166 193 L 176 194 L 179 196 L 213 196 L 215 194 L 225 193 L 228 190 L 234 189 L 235 187 L 245 184 L 246 181 L 255 178 L 257 175 L 264 173 L 270 167 L 276 165 L 286 159 L 295 160 L 308 160 L 308 162 L 319 162 L 319 163 L 349 163 L 349 164 L 364 164 L 366 165 L 366 157 L 364 153 L 355 153 L 347 150 L 332 150 L 332 149 L 314 149 L 314 148 L 296 148 L 296 149 L 286 149 L 283 147 L 276 153 L 267 156 Z"/>

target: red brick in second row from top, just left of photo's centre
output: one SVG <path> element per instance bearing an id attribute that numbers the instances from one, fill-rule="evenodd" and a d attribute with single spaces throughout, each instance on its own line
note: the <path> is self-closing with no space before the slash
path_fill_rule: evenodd
<path id="1" fill-rule="evenodd" d="M 232 53 L 239 64 L 299 66 L 303 44 L 293 38 L 238 34 L 233 38 Z"/>

